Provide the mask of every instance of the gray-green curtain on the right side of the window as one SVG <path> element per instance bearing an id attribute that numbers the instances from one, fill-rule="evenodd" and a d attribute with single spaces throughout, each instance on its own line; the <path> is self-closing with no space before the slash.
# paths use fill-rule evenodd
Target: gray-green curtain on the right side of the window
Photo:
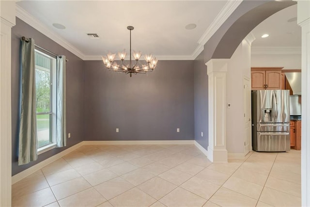
<path id="1" fill-rule="evenodd" d="M 66 146 L 66 57 L 57 56 L 56 146 Z"/>

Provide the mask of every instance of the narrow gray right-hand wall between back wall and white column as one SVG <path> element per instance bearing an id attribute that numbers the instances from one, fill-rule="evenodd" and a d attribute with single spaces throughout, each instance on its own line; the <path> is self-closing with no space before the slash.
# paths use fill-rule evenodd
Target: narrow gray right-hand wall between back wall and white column
<path id="1" fill-rule="evenodd" d="M 203 51 L 194 61 L 194 97 L 195 141 L 207 149 L 209 145 L 209 99 L 207 66 L 204 64 Z"/>

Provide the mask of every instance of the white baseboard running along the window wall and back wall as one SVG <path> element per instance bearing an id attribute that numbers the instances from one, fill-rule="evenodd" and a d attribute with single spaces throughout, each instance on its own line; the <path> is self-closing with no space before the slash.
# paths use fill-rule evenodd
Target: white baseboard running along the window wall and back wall
<path id="1" fill-rule="evenodd" d="M 72 147 L 63 150 L 62 152 L 47 158 L 43 160 L 42 162 L 39 162 L 36 165 L 31 166 L 30 168 L 12 176 L 12 185 L 19 180 L 22 180 L 23 178 L 31 175 L 32 173 L 40 170 L 41 168 L 47 166 L 48 164 L 52 163 L 53 161 L 56 161 L 57 159 L 62 158 L 66 154 L 69 154 L 73 150 L 77 149 L 80 146 L 83 145 L 90 145 L 90 144 L 194 144 L 194 140 L 151 140 L 151 141 L 82 141 L 76 145 L 73 145 Z"/>

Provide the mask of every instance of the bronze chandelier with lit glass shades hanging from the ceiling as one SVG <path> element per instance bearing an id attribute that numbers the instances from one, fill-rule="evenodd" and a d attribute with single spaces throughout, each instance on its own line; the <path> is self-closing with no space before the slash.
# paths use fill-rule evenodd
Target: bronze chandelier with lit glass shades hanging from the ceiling
<path id="1" fill-rule="evenodd" d="M 146 72 L 152 72 L 154 68 L 156 67 L 157 60 L 155 57 L 152 55 L 144 55 L 145 62 L 139 60 L 141 57 L 141 52 L 135 52 L 133 51 L 133 58 L 135 60 L 131 59 L 131 31 L 134 29 L 133 26 L 128 26 L 127 29 L 130 31 L 130 54 L 129 54 L 129 62 L 126 61 L 125 63 L 125 57 L 126 57 L 126 52 L 125 49 L 122 52 L 118 53 L 118 56 L 120 60 L 122 61 L 122 64 L 117 64 L 114 59 L 116 54 L 112 54 L 108 52 L 107 56 L 102 56 L 102 61 L 105 64 L 106 68 L 110 71 L 115 71 L 119 73 L 125 73 L 129 74 L 130 77 L 132 74 L 138 74 L 138 73 L 143 73 L 145 74 Z"/>

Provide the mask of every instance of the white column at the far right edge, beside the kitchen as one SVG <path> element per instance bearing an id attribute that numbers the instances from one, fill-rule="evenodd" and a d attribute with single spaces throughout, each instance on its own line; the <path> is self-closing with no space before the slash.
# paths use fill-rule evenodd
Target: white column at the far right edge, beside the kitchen
<path id="1" fill-rule="evenodd" d="M 297 1 L 301 26 L 301 205 L 310 206 L 310 0 Z"/>

